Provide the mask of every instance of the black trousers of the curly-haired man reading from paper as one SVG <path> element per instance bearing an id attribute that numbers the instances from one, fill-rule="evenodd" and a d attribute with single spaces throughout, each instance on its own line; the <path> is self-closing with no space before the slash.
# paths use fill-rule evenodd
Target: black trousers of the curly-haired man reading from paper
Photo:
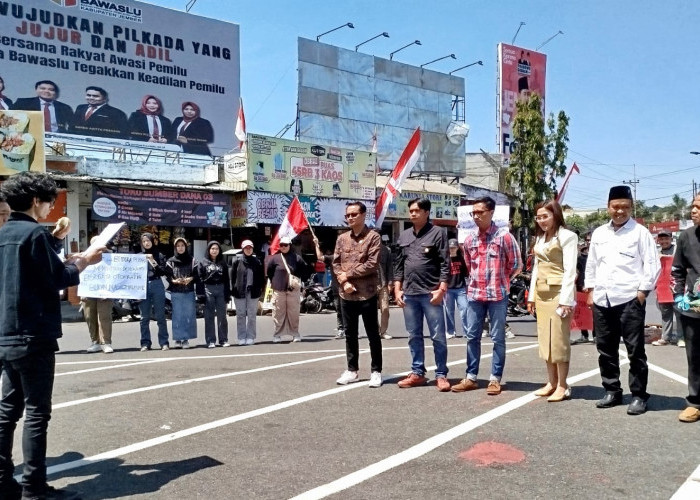
<path id="1" fill-rule="evenodd" d="M 24 474 L 22 487 L 28 498 L 46 491 L 46 435 L 51 419 L 51 395 L 56 353 L 33 352 L 20 359 L 2 361 L 0 400 L 0 493 L 12 481 L 12 444 L 17 421 L 26 410 L 22 433 Z"/>

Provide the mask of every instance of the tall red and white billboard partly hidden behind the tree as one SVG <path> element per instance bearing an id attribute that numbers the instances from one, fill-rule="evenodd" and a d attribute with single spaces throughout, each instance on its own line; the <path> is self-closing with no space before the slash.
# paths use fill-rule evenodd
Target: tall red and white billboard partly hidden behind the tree
<path id="1" fill-rule="evenodd" d="M 541 52 L 498 44 L 498 151 L 508 165 L 513 152 L 513 118 L 518 99 L 536 92 L 545 103 L 547 56 Z"/>

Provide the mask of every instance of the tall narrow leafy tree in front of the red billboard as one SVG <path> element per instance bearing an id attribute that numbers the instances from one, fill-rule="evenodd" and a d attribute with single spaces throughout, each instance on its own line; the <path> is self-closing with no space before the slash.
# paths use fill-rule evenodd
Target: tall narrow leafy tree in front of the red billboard
<path id="1" fill-rule="evenodd" d="M 566 174 L 566 154 L 569 142 L 569 117 L 559 111 L 545 119 L 542 99 L 536 93 L 515 104 L 513 120 L 514 151 L 506 170 L 506 181 L 520 192 L 514 223 L 532 227 L 532 209 L 540 201 L 554 198 L 557 178 Z M 527 236 L 521 235 L 523 246 Z"/>

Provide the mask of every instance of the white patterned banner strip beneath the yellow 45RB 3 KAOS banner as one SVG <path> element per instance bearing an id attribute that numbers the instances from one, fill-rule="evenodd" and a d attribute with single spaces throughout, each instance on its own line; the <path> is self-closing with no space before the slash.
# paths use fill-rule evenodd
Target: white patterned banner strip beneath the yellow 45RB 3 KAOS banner
<path id="1" fill-rule="evenodd" d="M 250 136 L 249 136 L 250 137 Z M 323 198 L 319 196 L 299 196 L 309 224 L 312 226 L 346 227 L 345 205 L 350 201 L 344 198 Z M 282 224 L 294 195 L 248 191 L 248 224 Z M 366 224 L 374 222 L 374 200 L 363 200 L 367 205 Z"/>

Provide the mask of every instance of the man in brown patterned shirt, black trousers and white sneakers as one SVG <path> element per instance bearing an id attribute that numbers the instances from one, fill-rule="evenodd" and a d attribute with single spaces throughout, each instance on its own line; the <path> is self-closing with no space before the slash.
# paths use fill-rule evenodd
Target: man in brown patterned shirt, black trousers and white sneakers
<path id="1" fill-rule="evenodd" d="M 372 356 L 370 387 L 382 385 L 382 341 L 377 320 L 377 282 L 379 271 L 379 233 L 370 231 L 365 224 L 367 207 L 361 201 L 348 203 L 345 220 L 350 231 L 338 236 L 333 255 L 333 272 L 338 278 L 345 350 L 348 368 L 336 383 L 346 385 L 359 380 L 358 330 L 360 316 L 365 325 Z"/>

